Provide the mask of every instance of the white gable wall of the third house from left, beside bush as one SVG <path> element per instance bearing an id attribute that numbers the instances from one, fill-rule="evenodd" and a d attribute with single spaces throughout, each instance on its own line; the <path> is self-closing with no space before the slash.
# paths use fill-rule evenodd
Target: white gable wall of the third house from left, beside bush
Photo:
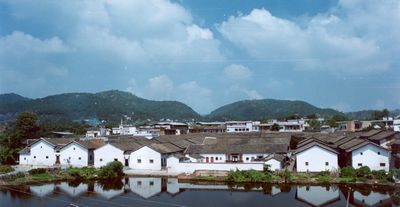
<path id="1" fill-rule="evenodd" d="M 105 166 L 114 159 L 117 159 L 123 165 L 125 164 L 124 152 L 111 144 L 106 144 L 94 150 L 94 167 Z"/>

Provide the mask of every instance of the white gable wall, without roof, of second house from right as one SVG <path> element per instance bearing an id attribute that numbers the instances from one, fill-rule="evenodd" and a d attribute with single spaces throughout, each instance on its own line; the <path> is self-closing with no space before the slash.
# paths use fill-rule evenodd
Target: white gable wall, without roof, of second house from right
<path id="1" fill-rule="evenodd" d="M 337 154 L 319 146 L 313 146 L 296 155 L 297 172 L 320 172 L 338 169 Z M 308 166 L 306 165 L 308 162 Z M 325 164 L 328 162 L 328 165 Z"/>

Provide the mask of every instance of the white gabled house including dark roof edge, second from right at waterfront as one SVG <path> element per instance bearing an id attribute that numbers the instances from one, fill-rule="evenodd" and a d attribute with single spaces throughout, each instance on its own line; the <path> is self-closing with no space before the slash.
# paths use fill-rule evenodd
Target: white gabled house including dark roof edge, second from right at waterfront
<path id="1" fill-rule="evenodd" d="M 298 172 L 333 171 L 339 168 L 338 151 L 318 141 L 311 141 L 295 151 Z"/>

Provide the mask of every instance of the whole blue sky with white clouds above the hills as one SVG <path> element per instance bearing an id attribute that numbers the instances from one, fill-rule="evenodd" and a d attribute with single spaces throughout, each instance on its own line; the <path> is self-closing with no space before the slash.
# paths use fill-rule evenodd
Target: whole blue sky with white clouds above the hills
<path id="1" fill-rule="evenodd" d="M 0 93 L 400 108 L 400 0 L 0 0 Z"/>

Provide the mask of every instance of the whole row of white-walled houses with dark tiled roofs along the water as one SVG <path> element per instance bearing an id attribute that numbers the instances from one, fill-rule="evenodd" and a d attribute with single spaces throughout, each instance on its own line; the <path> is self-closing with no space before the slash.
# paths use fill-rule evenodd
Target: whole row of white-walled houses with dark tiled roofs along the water
<path id="1" fill-rule="evenodd" d="M 334 171 L 345 166 L 388 171 L 399 133 L 221 133 L 80 140 L 41 138 L 19 152 L 21 165 L 94 166 L 112 161 L 133 170 L 194 173 L 198 170 Z M 300 140 L 300 141 L 299 141 Z"/>

